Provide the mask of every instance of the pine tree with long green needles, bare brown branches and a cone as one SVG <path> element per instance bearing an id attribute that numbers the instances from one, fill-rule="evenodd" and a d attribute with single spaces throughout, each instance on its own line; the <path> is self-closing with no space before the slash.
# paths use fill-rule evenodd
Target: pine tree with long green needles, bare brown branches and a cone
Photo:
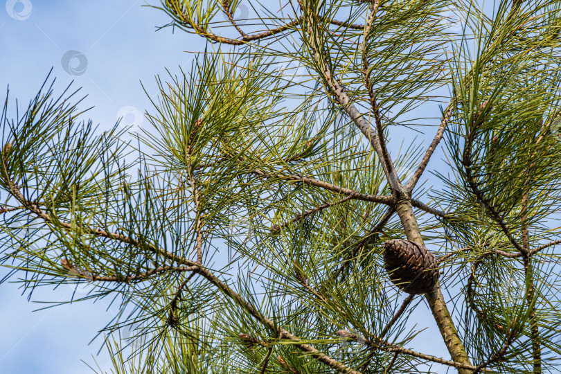
<path id="1" fill-rule="evenodd" d="M 247 1 L 154 6 L 208 46 L 139 146 L 6 96 L 3 281 L 114 298 L 116 373 L 558 373 L 561 2 Z"/>

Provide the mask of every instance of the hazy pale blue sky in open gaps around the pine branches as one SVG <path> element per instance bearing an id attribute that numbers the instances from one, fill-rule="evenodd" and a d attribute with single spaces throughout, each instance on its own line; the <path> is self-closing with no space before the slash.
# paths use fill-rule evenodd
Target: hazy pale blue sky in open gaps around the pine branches
<path id="1" fill-rule="evenodd" d="M 184 51 L 202 50 L 204 40 L 181 31 L 172 35 L 171 28 L 154 32 L 170 19 L 144 4 L 143 0 L 0 1 L 0 98 L 9 84 L 12 104 L 17 98 L 26 105 L 53 67 L 55 93 L 72 80 L 76 88 L 83 87 L 82 94 L 88 97 L 80 107 L 95 106 L 87 117 L 100 123 L 100 130 L 112 127 L 119 116 L 127 124 L 146 126 L 142 114 L 150 103 L 140 82 L 155 97 L 154 75 L 166 80 L 166 68 L 172 73 L 179 65 L 188 70 L 193 54 Z M 429 141 L 435 131 L 419 134 L 420 139 Z M 438 157 L 440 150 L 434 161 Z M 3 274 L 6 271 L 0 269 Z M 71 286 L 55 292 L 37 290 L 33 300 L 62 301 L 73 291 Z M 10 374 L 91 373 L 81 360 L 93 364 L 91 356 L 97 354 L 101 340 L 88 343 L 117 311 L 116 307 L 106 311 L 107 303 L 82 302 L 33 312 L 44 305 L 28 302 L 15 284 L 0 285 L 0 300 L 0 373 Z M 416 316 L 428 330 L 420 333 L 413 347 L 449 357 L 428 308 L 421 305 Z M 103 371 L 112 367 L 105 348 L 96 361 Z"/>

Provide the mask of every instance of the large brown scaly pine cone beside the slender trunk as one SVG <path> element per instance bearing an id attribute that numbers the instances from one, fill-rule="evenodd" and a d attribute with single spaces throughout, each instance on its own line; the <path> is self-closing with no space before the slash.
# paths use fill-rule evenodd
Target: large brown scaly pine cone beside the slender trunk
<path id="1" fill-rule="evenodd" d="M 438 281 L 438 266 L 431 251 L 411 240 L 384 243 L 384 262 L 392 283 L 409 294 L 424 294 Z"/>

